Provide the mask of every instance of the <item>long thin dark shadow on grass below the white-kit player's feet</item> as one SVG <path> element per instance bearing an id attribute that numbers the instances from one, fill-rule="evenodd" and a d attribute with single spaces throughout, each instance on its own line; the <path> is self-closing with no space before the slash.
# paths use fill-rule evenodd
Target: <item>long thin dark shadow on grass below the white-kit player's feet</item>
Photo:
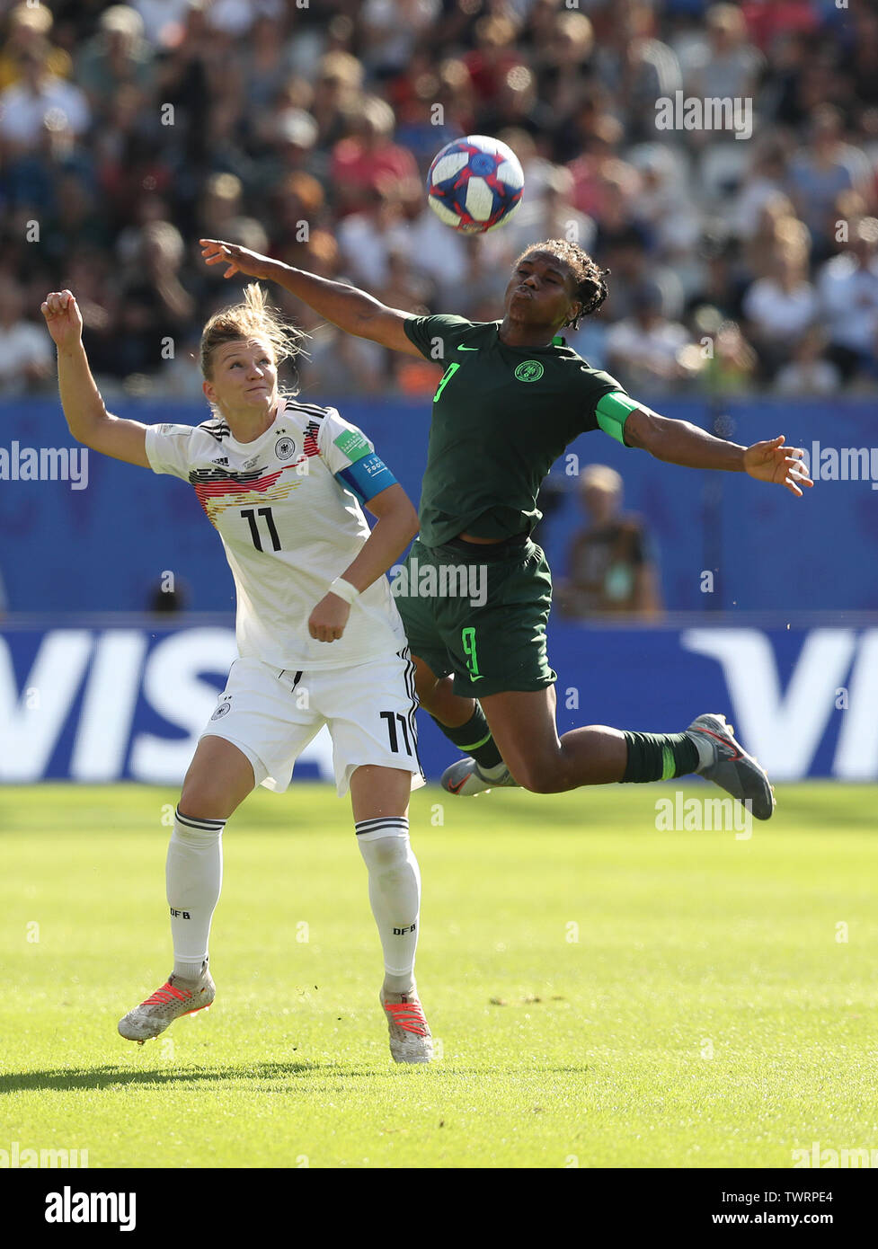
<path id="1" fill-rule="evenodd" d="M 396 1064 L 387 1068 L 345 1067 L 341 1063 L 318 1062 L 293 1062 L 293 1063 L 254 1063 L 251 1065 L 226 1065 L 226 1067 L 175 1067 L 164 1063 L 161 1067 L 116 1067 L 105 1063 L 100 1067 L 56 1067 L 45 1072 L 7 1072 L 0 1075 L 0 1094 L 17 1093 L 26 1089 L 55 1089 L 66 1092 L 69 1089 L 112 1089 L 126 1085 L 171 1085 L 171 1084 L 207 1084 L 231 1082 L 241 1085 L 250 1085 L 254 1080 L 284 1082 L 290 1077 L 318 1075 L 332 1078 L 342 1075 L 346 1078 L 366 1077 L 371 1080 L 387 1078 L 398 1070 L 446 1070 L 450 1075 L 481 1075 L 491 1074 L 480 1067 L 445 1067 L 442 1063 L 433 1063 L 430 1068 L 415 1064 L 413 1068 Z M 536 1070 L 531 1074 L 537 1074 Z M 582 1074 L 588 1067 L 552 1067 L 540 1068 L 538 1074 L 545 1075 L 573 1075 Z M 520 1072 L 513 1068 L 511 1074 Z M 282 1088 L 277 1088 L 282 1092 Z"/>

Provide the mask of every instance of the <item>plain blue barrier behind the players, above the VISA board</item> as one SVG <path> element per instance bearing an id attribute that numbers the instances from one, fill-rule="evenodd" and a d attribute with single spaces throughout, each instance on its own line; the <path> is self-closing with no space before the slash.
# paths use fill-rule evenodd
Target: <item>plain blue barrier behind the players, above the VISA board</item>
<path id="1" fill-rule="evenodd" d="M 366 430 L 417 501 L 428 397 L 338 400 L 337 406 Z M 703 400 L 668 398 L 654 406 L 667 416 L 716 426 L 718 410 Z M 114 411 L 147 425 L 197 425 L 209 415 L 204 406 L 179 402 L 126 401 Z M 741 473 L 662 463 L 599 431 L 582 435 L 552 468 L 545 495 L 547 507 L 555 506 L 538 541 L 555 573 L 565 573 L 571 540 L 585 523 L 577 473 L 601 462 L 618 470 L 626 510 L 643 518 L 668 610 L 878 611 L 874 402 L 738 400 L 724 405 L 721 417 L 716 427 L 742 443 L 786 433 L 816 461 L 817 486 L 794 498 Z M 222 546 L 184 482 L 95 452 L 80 462 L 56 400 L 0 403 L 0 586 L 7 611 L 149 611 L 167 573 L 184 590 L 190 611 L 234 610 Z M 37 473 L 22 476 L 34 455 Z M 57 471 L 65 468 L 61 455 L 66 480 Z M 704 571 L 712 575 L 709 591 Z"/>

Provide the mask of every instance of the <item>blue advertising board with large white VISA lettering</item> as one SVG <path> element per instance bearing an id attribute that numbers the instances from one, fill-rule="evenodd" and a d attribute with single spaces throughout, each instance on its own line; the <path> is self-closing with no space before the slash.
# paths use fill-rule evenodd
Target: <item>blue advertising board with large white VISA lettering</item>
<path id="1" fill-rule="evenodd" d="M 0 629 L 0 781 L 179 784 L 235 658 L 230 618 Z M 878 779 L 878 627 L 550 628 L 558 727 L 723 712 L 773 779 Z M 430 779 L 457 756 L 425 714 Z M 296 767 L 331 778 L 322 732 Z"/>

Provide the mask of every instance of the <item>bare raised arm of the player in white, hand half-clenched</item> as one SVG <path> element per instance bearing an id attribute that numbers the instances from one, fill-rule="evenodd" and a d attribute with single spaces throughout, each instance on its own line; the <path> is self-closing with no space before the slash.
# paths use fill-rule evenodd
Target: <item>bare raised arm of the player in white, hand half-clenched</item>
<path id="1" fill-rule="evenodd" d="M 92 451 L 149 468 L 146 426 L 111 416 L 104 406 L 82 346 L 82 313 L 74 296 L 52 291 L 41 311 L 57 347 L 57 386 L 72 436 Z"/>

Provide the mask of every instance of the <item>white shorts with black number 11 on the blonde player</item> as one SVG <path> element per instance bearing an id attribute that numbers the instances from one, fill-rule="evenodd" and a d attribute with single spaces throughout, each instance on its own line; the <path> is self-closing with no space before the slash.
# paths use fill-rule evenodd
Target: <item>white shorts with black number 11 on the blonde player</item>
<path id="1" fill-rule="evenodd" d="M 365 763 L 411 772 L 417 789 L 426 782 L 417 757 L 416 708 L 415 664 L 407 647 L 311 673 L 235 659 L 201 737 L 222 737 L 237 746 L 254 766 L 256 784 L 284 793 L 293 763 L 326 724 L 340 798 Z"/>

